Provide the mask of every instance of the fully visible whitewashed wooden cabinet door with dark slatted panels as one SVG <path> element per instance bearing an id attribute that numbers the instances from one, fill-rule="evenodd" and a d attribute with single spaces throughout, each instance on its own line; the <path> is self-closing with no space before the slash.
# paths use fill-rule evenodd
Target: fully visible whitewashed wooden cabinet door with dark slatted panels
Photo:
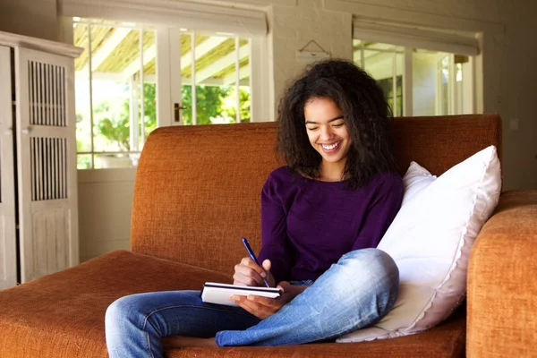
<path id="1" fill-rule="evenodd" d="M 71 58 L 15 48 L 21 282 L 78 264 Z"/>

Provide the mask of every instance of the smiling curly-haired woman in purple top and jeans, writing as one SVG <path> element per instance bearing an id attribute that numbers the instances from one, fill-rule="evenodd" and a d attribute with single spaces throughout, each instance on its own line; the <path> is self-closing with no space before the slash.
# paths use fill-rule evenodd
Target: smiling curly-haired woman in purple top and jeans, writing
<path id="1" fill-rule="evenodd" d="M 277 149 L 286 166 L 261 192 L 258 266 L 244 258 L 234 284 L 278 286 L 276 299 L 198 291 L 132 294 L 107 310 L 111 358 L 162 357 L 163 347 L 297 345 L 369 326 L 396 301 L 399 275 L 374 249 L 401 205 L 391 116 L 376 82 L 354 64 L 311 66 L 286 90 Z"/>

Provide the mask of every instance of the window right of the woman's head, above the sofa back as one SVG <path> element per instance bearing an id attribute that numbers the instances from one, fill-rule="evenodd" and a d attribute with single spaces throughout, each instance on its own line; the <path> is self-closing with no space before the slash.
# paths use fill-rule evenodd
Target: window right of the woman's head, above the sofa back
<path id="1" fill-rule="evenodd" d="M 379 82 L 394 116 L 473 113 L 469 56 L 354 39 L 354 63 Z"/>

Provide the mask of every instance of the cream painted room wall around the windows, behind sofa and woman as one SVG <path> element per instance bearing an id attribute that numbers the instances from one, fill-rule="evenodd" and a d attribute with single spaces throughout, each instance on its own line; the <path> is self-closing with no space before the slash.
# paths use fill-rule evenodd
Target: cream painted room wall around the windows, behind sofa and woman
<path id="1" fill-rule="evenodd" d="M 47 39 L 65 38 L 58 30 L 55 0 L 4 0 L 0 30 Z M 59 0 L 60 3 L 62 0 Z M 180 0 L 177 0 L 180 1 Z M 201 2 L 201 1 L 200 1 Z M 537 189 L 537 119 L 534 110 L 537 72 L 537 2 L 533 0 L 220 0 L 211 3 L 251 6 L 268 12 L 268 62 L 273 64 L 271 96 L 279 98 L 286 81 L 303 69 L 295 51 L 314 39 L 334 57 L 352 59 L 352 17 L 376 13 L 379 19 L 400 21 L 443 19 L 452 26 L 476 21 L 487 29 L 503 26 L 503 33 L 482 38 L 483 112 L 498 112 L 504 120 L 504 189 Z M 266 7 L 267 5 L 268 8 Z M 344 11 L 323 9 L 329 6 Z M 480 101 L 480 98 L 477 98 Z M 277 106 L 277 101 L 275 101 Z M 518 118 L 518 129 L 509 120 Z M 267 119 L 270 115 L 267 115 Z M 133 173 L 133 171 L 132 171 Z M 81 260 L 115 248 L 128 248 L 133 174 L 121 180 L 80 173 Z"/>

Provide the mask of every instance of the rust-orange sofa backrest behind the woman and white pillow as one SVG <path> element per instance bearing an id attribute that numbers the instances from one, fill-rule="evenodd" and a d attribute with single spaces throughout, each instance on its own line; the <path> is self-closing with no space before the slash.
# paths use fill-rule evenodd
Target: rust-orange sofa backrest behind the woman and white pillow
<path id="1" fill-rule="evenodd" d="M 399 117 L 393 126 L 398 170 L 412 160 L 441 175 L 496 145 L 499 115 Z M 260 191 L 283 165 L 274 155 L 276 124 L 158 128 L 141 153 L 132 206 L 132 251 L 232 274 L 260 250 Z"/>

